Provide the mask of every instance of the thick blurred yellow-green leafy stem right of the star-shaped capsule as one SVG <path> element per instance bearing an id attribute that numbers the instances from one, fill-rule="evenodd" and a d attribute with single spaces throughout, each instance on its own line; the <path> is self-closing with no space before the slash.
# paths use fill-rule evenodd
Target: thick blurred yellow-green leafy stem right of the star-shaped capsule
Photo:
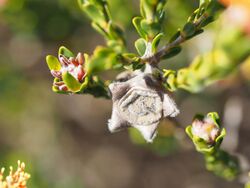
<path id="1" fill-rule="evenodd" d="M 249 38 L 241 31 L 226 28 L 219 34 L 212 51 L 197 56 L 186 68 L 178 71 L 163 70 L 163 83 L 170 91 L 181 88 L 199 92 L 235 72 L 250 55 L 249 43 Z"/>

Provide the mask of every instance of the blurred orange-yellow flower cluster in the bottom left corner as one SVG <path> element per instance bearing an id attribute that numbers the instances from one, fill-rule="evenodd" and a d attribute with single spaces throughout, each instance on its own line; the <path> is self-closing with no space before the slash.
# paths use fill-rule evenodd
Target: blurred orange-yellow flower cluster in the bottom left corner
<path id="1" fill-rule="evenodd" d="M 1 169 L 0 172 L 0 187 L 1 188 L 26 188 L 26 184 L 28 179 L 30 178 L 30 174 L 25 172 L 25 164 L 18 161 L 17 170 L 14 171 L 12 167 L 10 167 L 10 173 L 6 178 L 3 177 L 4 168 Z"/>

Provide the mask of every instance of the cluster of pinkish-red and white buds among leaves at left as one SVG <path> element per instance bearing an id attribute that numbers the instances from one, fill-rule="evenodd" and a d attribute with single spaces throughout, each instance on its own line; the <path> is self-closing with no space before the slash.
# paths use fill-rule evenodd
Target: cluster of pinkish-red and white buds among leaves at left
<path id="1" fill-rule="evenodd" d="M 67 58 L 64 55 L 60 54 L 58 59 L 61 64 L 61 69 L 51 70 L 51 74 L 55 78 L 59 79 L 59 81 L 54 83 L 54 87 L 56 87 L 60 91 L 69 90 L 66 83 L 64 83 L 62 79 L 62 75 L 65 73 L 69 73 L 70 75 L 72 75 L 79 83 L 84 82 L 86 72 L 84 71 L 84 68 L 83 68 L 84 57 L 81 53 L 78 53 L 76 58 L 74 57 Z"/>

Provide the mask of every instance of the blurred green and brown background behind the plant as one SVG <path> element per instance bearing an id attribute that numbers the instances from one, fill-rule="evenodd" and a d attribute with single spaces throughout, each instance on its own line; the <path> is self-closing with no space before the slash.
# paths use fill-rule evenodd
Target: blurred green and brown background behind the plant
<path id="1" fill-rule="evenodd" d="M 131 18 L 139 14 L 139 1 L 109 4 L 135 52 L 138 36 Z M 167 38 L 197 6 L 197 0 L 168 1 Z M 242 16 L 241 10 L 227 10 L 162 66 L 187 66 L 197 54 L 213 48 L 217 33 L 227 25 L 235 23 L 249 37 L 249 12 Z M 243 27 L 244 19 L 248 25 Z M 91 54 L 104 44 L 76 0 L 0 0 L 0 166 L 24 161 L 32 176 L 29 188 L 242 187 L 206 171 L 184 128 L 197 112 L 218 111 L 228 132 L 223 147 L 250 158 L 250 60 L 201 93 L 175 92 L 180 115 L 176 121 L 164 120 L 156 141 L 148 145 L 131 129 L 109 133 L 111 101 L 51 91 L 47 54 L 56 55 L 61 45 Z"/>

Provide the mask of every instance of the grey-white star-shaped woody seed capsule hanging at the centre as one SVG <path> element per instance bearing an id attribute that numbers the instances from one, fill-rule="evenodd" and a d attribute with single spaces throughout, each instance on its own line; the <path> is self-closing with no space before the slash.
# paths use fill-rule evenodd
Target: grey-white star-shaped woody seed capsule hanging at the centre
<path id="1" fill-rule="evenodd" d="M 152 142 L 164 117 L 175 117 L 179 110 L 151 73 L 129 74 L 110 84 L 113 111 L 108 127 L 111 132 L 132 126 Z"/>

